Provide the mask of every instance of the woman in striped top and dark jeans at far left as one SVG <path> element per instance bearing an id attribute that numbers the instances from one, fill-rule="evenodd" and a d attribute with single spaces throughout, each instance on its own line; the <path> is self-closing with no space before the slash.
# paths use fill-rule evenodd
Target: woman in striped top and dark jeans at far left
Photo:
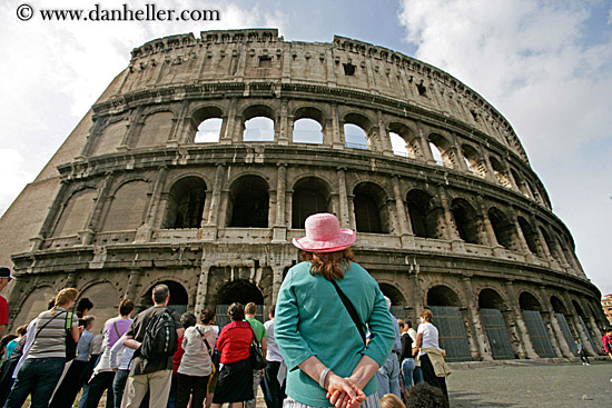
<path id="1" fill-rule="evenodd" d="M 18 408 L 31 394 L 32 407 L 47 407 L 66 365 L 66 327 L 75 342 L 79 341 L 77 319 L 67 321 L 67 310 L 75 305 L 79 292 L 67 288 L 59 291 L 51 310 L 38 315 L 23 347 L 17 377 L 7 399 L 6 408 Z"/>

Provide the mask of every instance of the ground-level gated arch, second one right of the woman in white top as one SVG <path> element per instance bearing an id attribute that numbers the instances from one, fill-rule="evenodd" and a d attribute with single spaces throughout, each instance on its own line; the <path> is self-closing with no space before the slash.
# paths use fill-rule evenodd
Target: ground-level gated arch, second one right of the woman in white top
<path id="1" fill-rule="evenodd" d="M 480 319 L 494 359 L 517 358 L 521 354 L 520 335 L 507 305 L 509 300 L 493 287 L 478 292 Z"/>

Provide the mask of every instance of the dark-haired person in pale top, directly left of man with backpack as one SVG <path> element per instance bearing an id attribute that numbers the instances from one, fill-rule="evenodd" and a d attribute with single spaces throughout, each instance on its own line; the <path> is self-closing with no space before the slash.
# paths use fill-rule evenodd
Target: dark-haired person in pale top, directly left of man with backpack
<path id="1" fill-rule="evenodd" d="M 107 408 L 115 407 L 115 398 L 108 397 L 112 395 L 112 381 L 115 380 L 115 371 L 110 365 L 110 349 L 119 338 L 128 331 L 131 326 L 130 316 L 132 312 L 134 301 L 130 299 L 122 299 L 121 302 L 119 302 L 119 316 L 108 319 L 105 322 L 102 329 L 102 352 L 93 368 L 92 377 L 89 379 L 85 408 L 96 408 L 105 390 L 107 391 Z"/>

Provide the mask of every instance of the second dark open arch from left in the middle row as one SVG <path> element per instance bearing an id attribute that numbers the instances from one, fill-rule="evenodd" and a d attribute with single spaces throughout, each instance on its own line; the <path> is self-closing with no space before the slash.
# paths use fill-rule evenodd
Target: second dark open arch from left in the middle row
<path id="1" fill-rule="evenodd" d="M 270 193 L 268 179 L 249 171 L 229 183 L 226 226 L 239 228 L 268 228 Z"/>

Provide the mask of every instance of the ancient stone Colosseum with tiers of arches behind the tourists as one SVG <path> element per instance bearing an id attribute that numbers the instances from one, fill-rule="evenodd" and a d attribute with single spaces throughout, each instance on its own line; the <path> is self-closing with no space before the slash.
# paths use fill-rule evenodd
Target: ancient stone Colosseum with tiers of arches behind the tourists
<path id="1" fill-rule="evenodd" d="M 102 321 L 159 282 L 177 310 L 263 311 L 324 211 L 394 315 L 434 311 L 448 360 L 599 354 L 601 293 L 509 121 L 414 58 L 276 29 L 134 49 L 0 221 L 11 326 L 63 287 Z"/>

